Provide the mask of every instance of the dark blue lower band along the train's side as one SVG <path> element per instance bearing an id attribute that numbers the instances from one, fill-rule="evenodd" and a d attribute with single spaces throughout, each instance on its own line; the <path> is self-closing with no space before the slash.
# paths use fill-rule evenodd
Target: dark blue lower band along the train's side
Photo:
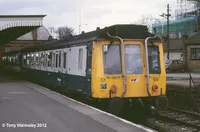
<path id="1" fill-rule="evenodd" d="M 91 79 L 87 76 L 83 77 L 29 68 L 24 68 L 23 70 L 28 77 L 36 81 L 45 82 L 53 86 L 61 86 L 91 96 Z"/>

